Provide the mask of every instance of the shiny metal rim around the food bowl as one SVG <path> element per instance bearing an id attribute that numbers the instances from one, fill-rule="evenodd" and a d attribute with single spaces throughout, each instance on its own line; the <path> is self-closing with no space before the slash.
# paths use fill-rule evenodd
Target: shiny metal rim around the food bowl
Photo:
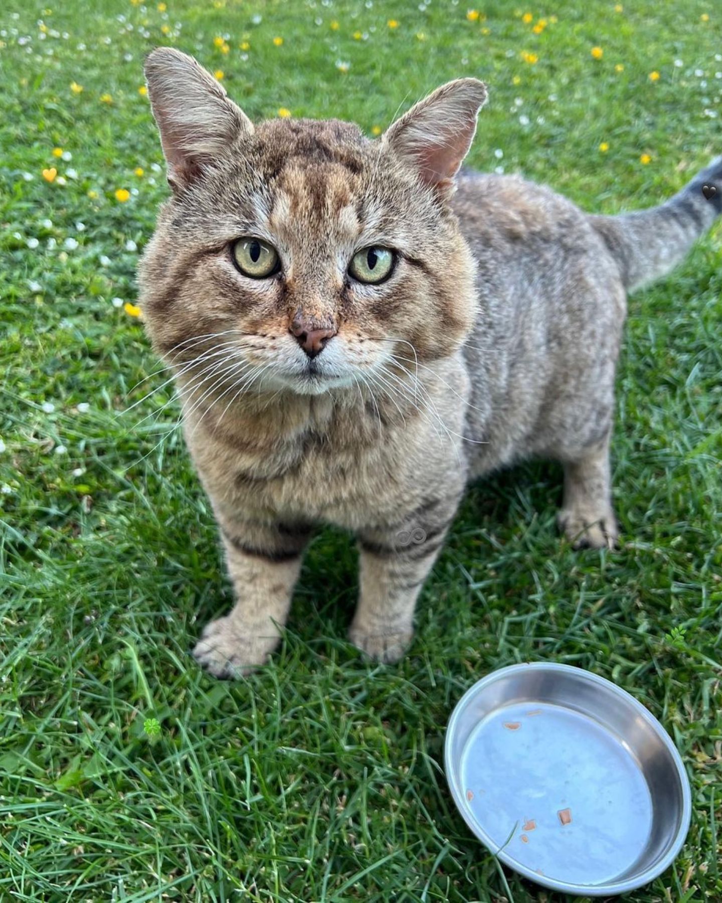
<path id="1" fill-rule="evenodd" d="M 662 743 L 670 752 L 671 759 L 674 762 L 674 767 L 677 771 L 677 777 L 680 782 L 682 793 L 680 828 L 677 832 L 676 837 L 674 838 L 674 842 L 672 842 L 671 844 L 670 849 L 653 867 L 641 871 L 633 878 L 629 878 L 624 881 L 616 881 L 613 883 L 597 885 L 570 884 L 566 881 L 547 878 L 546 876 L 542 876 L 538 872 L 532 871 L 531 869 L 527 868 L 527 866 L 523 865 L 522 862 L 515 860 L 514 857 L 510 856 L 507 852 L 504 852 L 504 850 L 493 852 L 496 846 L 495 842 L 492 841 L 492 839 L 488 836 L 488 834 L 486 834 L 485 831 L 480 830 L 477 824 L 474 824 L 472 820 L 467 817 L 464 800 L 462 799 L 460 794 L 457 793 L 454 781 L 449 778 L 449 775 L 456 773 L 455 768 L 451 763 L 451 743 L 454 738 L 454 732 L 456 730 L 457 721 L 460 718 L 460 713 L 465 708 L 465 703 L 467 703 L 467 700 L 471 696 L 477 694 L 487 684 L 495 683 L 495 681 L 503 675 L 513 674 L 514 672 L 529 671 L 530 669 L 535 671 L 556 671 L 560 672 L 561 674 L 574 675 L 581 680 L 587 680 L 593 684 L 601 684 L 603 686 L 606 686 L 614 693 L 618 694 L 622 699 L 624 699 L 626 703 L 631 705 L 632 708 L 634 708 L 634 710 L 638 712 L 645 721 L 647 721 L 647 723 L 653 728 L 655 734 L 660 738 L 660 740 L 662 740 Z M 553 890 L 561 890 L 565 893 L 583 894 L 587 897 L 605 897 L 609 896 L 610 894 L 622 894 L 626 893 L 629 890 L 643 887 L 643 885 L 648 884 L 650 881 L 653 881 L 655 878 L 657 878 L 658 875 L 662 874 L 662 871 L 670 867 L 671 863 L 676 859 L 677 854 L 680 852 L 682 844 L 685 842 L 687 833 L 690 830 L 690 820 L 692 815 L 690 779 L 689 777 L 687 777 L 687 772 L 685 771 L 684 763 L 682 762 L 680 753 L 677 747 L 672 742 L 670 735 L 667 733 L 667 731 L 664 730 L 662 723 L 658 719 L 656 719 L 652 712 L 645 708 L 645 706 L 643 706 L 643 704 L 640 703 L 639 700 L 635 699 L 634 696 L 628 693 L 626 690 L 623 690 L 621 686 L 617 686 L 617 684 L 614 684 L 612 683 L 612 681 L 607 680 L 606 677 L 601 677 L 591 671 L 587 671 L 585 668 L 580 668 L 573 665 L 563 665 L 560 662 L 522 662 L 518 665 L 507 665 L 502 668 L 496 668 L 495 671 L 491 671 L 489 672 L 489 674 L 477 680 L 475 684 L 471 684 L 471 686 L 468 687 L 467 691 L 458 700 L 458 703 L 454 706 L 454 710 L 453 712 L 451 712 L 451 715 L 449 717 L 446 739 L 444 740 L 444 771 L 446 774 L 447 783 L 449 784 L 449 790 L 451 791 L 451 796 L 454 799 L 454 803 L 456 804 L 459 813 L 471 829 L 472 833 L 474 833 L 477 838 L 484 843 L 486 849 L 491 852 L 492 855 L 494 855 L 497 859 L 504 862 L 504 865 L 507 865 L 510 869 L 518 872 L 520 875 L 523 875 L 524 878 L 528 878 L 529 880 L 532 880 L 537 884 L 542 884 L 543 887 L 547 887 Z"/>

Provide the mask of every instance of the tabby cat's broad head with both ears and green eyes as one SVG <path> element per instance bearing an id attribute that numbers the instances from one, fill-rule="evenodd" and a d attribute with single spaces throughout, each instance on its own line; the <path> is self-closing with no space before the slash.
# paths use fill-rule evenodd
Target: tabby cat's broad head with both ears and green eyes
<path id="1" fill-rule="evenodd" d="M 316 395 L 458 349 L 476 300 L 449 200 L 481 82 L 444 85 L 369 140 L 338 120 L 254 126 L 180 51 L 145 72 L 172 197 L 141 306 L 164 358 Z"/>

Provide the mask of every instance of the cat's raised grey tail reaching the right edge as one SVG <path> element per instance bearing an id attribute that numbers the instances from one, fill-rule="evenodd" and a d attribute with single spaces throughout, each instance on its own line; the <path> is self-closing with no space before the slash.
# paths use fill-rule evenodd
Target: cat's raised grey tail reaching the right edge
<path id="1" fill-rule="evenodd" d="M 692 243 L 722 214 L 722 156 L 674 197 L 616 217 L 589 216 L 633 291 L 680 263 Z"/>

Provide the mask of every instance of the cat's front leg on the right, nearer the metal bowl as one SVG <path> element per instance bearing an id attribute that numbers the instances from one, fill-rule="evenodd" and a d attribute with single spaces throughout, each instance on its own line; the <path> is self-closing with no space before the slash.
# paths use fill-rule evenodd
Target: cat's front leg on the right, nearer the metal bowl
<path id="1" fill-rule="evenodd" d="M 457 500 L 425 502 L 402 524 L 359 533 L 360 592 L 348 638 L 377 661 L 398 661 L 413 637 L 413 612 Z"/>

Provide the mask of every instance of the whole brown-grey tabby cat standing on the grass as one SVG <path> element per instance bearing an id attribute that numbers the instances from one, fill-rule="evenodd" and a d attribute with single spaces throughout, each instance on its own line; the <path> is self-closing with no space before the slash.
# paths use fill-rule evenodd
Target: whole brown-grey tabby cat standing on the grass
<path id="1" fill-rule="evenodd" d="M 521 178 L 459 172 L 477 79 L 369 140 L 333 119 L 254 125 L 169 48 L 145 73 L 172 195 L 140 303 L 236 594 L 199 663 L 234 676 L 267 659 L 321 523 L 358 539 L 352 642 L 395 661 L 465 486 L 530 456 L 563 463 L 569 540 L 613 545 L 625 295 L 720 213 L 722 158 L 661 207 L 590 216 Z"/>

